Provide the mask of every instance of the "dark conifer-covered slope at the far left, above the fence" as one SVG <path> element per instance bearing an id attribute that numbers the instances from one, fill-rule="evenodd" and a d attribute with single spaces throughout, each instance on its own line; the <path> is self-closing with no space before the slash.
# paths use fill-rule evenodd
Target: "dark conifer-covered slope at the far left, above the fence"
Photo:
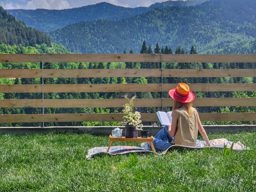
<path id="1" fill-rule="evenodd" d="M 0 44 L 21 44 L 35 46 L 46 43 L 50 46 L 50 38 L 42 31 L 27 27 L 23 21 L 17 20 L 0 6 Z"/>

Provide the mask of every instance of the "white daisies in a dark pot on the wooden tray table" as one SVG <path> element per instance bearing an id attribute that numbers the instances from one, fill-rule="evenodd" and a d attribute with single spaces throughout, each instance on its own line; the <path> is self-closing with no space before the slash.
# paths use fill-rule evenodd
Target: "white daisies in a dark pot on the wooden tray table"
<path id="1" fill-rule="evenodd" d="M 126 95 L 127 98 L 127 95 Z M 123 124 L 125 124 L 125 137 L 126 138 L 138 138 L 138 130 L 142 130 L 143 124 L 140 120 L 140 112 L 135 111 L 134 97 L 128 99 L 128 103 L 123 105 L 122 113 Z"/>

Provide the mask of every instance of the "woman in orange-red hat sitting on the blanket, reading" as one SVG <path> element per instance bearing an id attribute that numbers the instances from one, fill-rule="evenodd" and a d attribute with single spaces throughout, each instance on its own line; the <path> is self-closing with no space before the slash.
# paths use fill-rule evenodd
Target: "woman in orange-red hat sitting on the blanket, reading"
<path id="1" fill-rule="evenodd" d="M 164 151 L 172 145 L 196 146 L 198 130 L 207 145 L 210 145 L 206 131 L 198 116 L 197 110 L 192 107 L 194 94 L 185 83 L 179 83 L 175 89 L 169 91 L 174 99 L 172 107 L 172 123 L 164 126 L 154 137 L 153 145 L 156 150 Z M 148 142 L 141 147 L 151 150 Z"/>

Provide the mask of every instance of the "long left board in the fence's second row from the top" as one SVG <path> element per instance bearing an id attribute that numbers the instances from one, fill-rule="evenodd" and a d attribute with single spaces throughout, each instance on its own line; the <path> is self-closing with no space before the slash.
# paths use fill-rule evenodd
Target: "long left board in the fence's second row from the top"
<path id="1" fill-rule="evenodd" d="M 0 69 L 0 78 L 97 78 L 160 76 L 160 69 Z"/>

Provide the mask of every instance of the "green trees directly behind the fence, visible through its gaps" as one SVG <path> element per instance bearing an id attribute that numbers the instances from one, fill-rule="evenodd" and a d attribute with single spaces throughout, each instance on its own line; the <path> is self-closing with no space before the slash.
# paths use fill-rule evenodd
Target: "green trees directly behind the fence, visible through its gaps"
<path id="1" fill-rule="evenodd" d="M 62 50 L 61 47 L 57 45 L 52 45 L 56 50 Z M 6 52 L 15 53 L 21 49 L 28 52 L 27 48 L 19 46 L 0 46 L 5 49 Z M 7 49 L 7 50 L 6 50 Z M 38 46 L 37 49 L 33 49 L 33 52 L 43 52 L 43 50 L 48 50 L 48 53 L 54 53 L 55 50 L 49 51 L 48 47 Z M 11 52 L 12 51 L 12 52 Z M 126 49 L 123 53 L 128 54 Z M 140 53 L 163 53 L 163 54 L 197 54 L 197 49 L 192 45 L 190 51 L 187 52 L 181 46 L 178 46 L 175 51 L 172 51 L 170 46 L 160 47 L 158 43 L 154 47 L 147 46 L 146 41 L 142 43 Z M 133 50 L 130 49 L 129 54 L 133 54 Z M 250 69 L 256 68 L 255 63 L 162 63 L 162 68 L 166 69 Z M 39 68 L 38 63 L 1 63 L 1 69 L 31 69 Z M 44 69 L 112 69 L 112 68 L 159 68 L 159 63 L 154 62 L 126 62 L 126 63 L 44 63 Z M 0 79 L 1 84 L 40 84 L 39 78 L 16 78 L 14 80 L 10 79 Z M 112 78 L 44 78 L 44 84 L 147 84 L 147 83 L 159 83 L 159 78 L 150 77 L 112 77 Z M 179 82 L 185 83 L 256 83 L 256 78 L 163 78 L 163 83 L 176 84 Z M 192 90 L 193 91 L 193 90 Z M 234 95 L 234 92 L 194 92 L 196 97 L 238 97 L 241 94 Z M 45 93 L 44 98 L 46 99 L 98 99 L 98 98 L 124 98 L 127 93 L 123 92 L 82 92 L 82 93 Z M 246 96 L 254 96 L 254 92 L 245 92 Z M 160 98 L 160 92 L 130 92 L 129 97 L 136 95 L 136 98 Z M 6 93 L 0 95 L 3 99 L 35 99 L 41 98 L 38 93 Z M 167 92 L 163 92 L 163 97 L 169 97 Z M 241 97 L 245 97 L 242 95 Z M 223 108 L 223 107 L 198 107 L 199 112 L 223 112 L 223 111 L 233 111 L 235 107 Z M 244 110 L 248 107 L 241 108 Z M 44 108 L 44 113 L 118 113 L 121 112 L 122 108 Z M 137 107 L 137 110 L 142 113 L 155 113 L 161 110 L 159 107 Z M 171 110 L 171 107 L 165 107 L 165 111 Z M 255 109 L 250 107 L 251 112 Z M 241 111 L 240 111 L 241 112 Z M 1 108 L 1 114 L 36 114 L 41 113 L 40 108 Z M 209 122 L 213 123 L 213 122 Z M 220 122 L 219 122 L 220 123 Z M 91 125 L 119 125 L 120 122 L 54 122 L 45 123 L 46 126 L 91 126 Z M 152 122 L 144 122 L 144 125 L 152 124 Z M 40 123 L 5 123 L 1 126 L 39 126 Z"/>

